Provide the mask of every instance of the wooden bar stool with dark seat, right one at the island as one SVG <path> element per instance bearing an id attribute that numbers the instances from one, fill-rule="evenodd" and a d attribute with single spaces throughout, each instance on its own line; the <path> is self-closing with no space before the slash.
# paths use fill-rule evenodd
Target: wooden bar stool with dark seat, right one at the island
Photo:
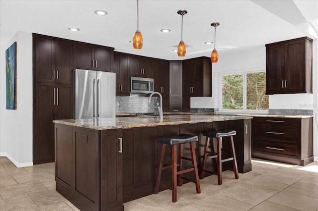
<path id="1" fill-rule="evenodd" d="M 233 136 L 237 134 L 237 131 L 235 130 L 229 130 L 229 129 L 222 129 L 217 131 L 205 131 L 203 132 L 203 135 L 206 136 L 205 139 L 205 147 L 204 147 L 204 154 L 203 154 L 203 161 L 202 161 L 202 167 L 200 171 L 200 179 L 203 179 L 204 172 L 208 173 L 214 173 L 212 171 L 205 170 L 205 163 L 207 158 L 217 158 L 217 170 L 218 170 L 218 184 L 222 184 L 222 163 L 226 161 L 233 160 L 233 168 L 235 173 L 235 178 L 239 179 L 239 173 L 238 173 L 238 164 L 237 164 L 237 158 L 235 155 L 235 148 L 234 148 L 234 141 Z M 231 158 L 222 159 L 222 137 L 229 137 L 231 140 Z M 210 142 L 211 139 L 216 138 L 217 140 L 217 152 L 214 152 L 213 142 Z M 208 151 L 209 148 L 209 142 L 211 143 L 211 151 Z"/>

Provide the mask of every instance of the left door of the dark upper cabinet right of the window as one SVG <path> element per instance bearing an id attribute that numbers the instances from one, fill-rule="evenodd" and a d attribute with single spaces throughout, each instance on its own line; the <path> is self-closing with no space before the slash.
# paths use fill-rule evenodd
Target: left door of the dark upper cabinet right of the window
<path id="1" fill-rule="evenodd" d="M 284 44 L 266 46 L 266 95 L 284 92 Z"/>

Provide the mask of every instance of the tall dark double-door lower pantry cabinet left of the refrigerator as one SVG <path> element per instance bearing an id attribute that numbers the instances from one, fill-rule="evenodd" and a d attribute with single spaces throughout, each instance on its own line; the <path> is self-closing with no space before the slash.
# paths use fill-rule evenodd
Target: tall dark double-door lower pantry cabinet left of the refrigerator
<path id="1" fill-rule="evenodd" d="M 73 86 L 36 83 L 33 163 L 54 161 L 54 119 L 73 118 Z"/>

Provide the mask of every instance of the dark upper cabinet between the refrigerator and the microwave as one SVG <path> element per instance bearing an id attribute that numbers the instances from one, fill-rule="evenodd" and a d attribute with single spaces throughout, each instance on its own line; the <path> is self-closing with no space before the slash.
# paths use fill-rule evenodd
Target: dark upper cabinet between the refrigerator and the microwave
<path id="1" fill-rule="evenodd" d="M 116 95 L 130 95 L 130 56 L 114 53 L 114 70 L 116 72 Z"/>

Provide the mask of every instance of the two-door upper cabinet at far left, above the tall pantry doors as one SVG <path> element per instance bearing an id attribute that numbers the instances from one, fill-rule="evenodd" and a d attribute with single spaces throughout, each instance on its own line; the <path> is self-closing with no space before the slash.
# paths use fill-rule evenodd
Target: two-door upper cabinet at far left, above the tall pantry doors
<path id="1" fill-rule="evenodd" d="M 34 36 L 35 81 L 72 84 L 73 44 L 45 36 Z"/>

